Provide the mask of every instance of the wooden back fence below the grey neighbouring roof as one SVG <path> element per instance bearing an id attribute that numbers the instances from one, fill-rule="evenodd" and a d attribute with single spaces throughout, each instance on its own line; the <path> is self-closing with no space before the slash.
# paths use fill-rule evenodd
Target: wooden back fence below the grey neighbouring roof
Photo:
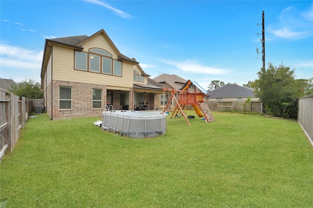
<path id="1" fill-rule="evenodd" d="M 205 101 L 211 111 L 245 111 L 244 100 L 207 100 Z M 263 111 L 263 105 L 259 101 L 250 101 L 246 105 L 246 111 Z"/>

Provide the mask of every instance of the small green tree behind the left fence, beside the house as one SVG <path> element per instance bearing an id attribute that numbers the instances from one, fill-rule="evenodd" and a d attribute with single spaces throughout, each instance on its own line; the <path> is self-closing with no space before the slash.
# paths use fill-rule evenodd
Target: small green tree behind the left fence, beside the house
<path id="1" fill-rule="evenodd" d="M 44 97 L 40 84 L 35 83 L 32 79 L 25 79 L 25 81 L 18 83 L 18 87 L 12 89 L 12 93 L 20 96 L 20 98 L 40 99 Z"/>

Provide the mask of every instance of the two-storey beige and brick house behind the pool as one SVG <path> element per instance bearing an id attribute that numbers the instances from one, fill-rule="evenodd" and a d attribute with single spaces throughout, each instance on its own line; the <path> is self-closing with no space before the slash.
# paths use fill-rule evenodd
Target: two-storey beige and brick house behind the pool
<path id="1" fill-rule="evenodd" d="M 41 88 L 51 119 L 110 110 L 157 108 L 156 86 L 135 58 L 119 52 L 102 29 L 91 36 L 46 39 Z"/>

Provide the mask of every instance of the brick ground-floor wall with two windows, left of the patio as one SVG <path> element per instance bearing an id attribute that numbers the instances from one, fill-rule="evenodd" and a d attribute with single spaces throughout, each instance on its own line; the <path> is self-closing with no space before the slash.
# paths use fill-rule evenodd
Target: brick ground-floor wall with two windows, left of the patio
<path id="1" fill-rule="evenodd" d="M 69 117 L 86 117 L 86 116 L 100 116 L 104 111 L 107 99 L 107 86 L 99 84 L 88 84 L 69 81 L 52 80 L 52 116 L 53 119 L 62 119 Z M 72 88 L 72 109 L 59 109 L 59 87 Z M 92 89 L 102 90 L 102 108 L 92 109 Z M 51 94 L 51 93 L 50 93 Z M 113 94 L 114 95 L 114 94 Z M 113 99 L 114 100 L 114 99 Z M 119 100 L 118 100 L 119 101 Z M 49 103 L 47 103 L 49 105 Z M 51 104 L 50 104 L 51 105 Z M 51 108 L 47 106 L 47 109 Z M 114 109 L 115 110 L 115 109 Z M 51 116 L 50 116 L 51 117 Z"/>

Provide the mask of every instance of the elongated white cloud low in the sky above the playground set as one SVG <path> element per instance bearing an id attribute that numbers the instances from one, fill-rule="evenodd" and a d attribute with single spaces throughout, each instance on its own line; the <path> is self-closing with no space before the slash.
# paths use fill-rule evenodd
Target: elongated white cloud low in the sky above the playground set
<path id="1" fill-rule="evenodd" d="M 173 65 L 181 71 L 186 73 L 196 73 L 196 74 L 208 74 L 208 75 L 220 75 L 227 73 L 227 70 L 212 67 L 212 66 L 202 66 L 195 60 L 186 60 L 184 62 L 172 61 L 161 59 L 162 62 Z"/>

